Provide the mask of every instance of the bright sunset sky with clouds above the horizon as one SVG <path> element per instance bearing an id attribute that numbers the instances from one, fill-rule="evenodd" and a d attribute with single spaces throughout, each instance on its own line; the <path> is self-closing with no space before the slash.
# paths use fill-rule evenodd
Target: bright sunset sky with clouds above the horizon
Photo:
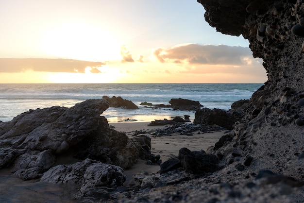
<path id="1" fill-rule="evenodd" d="M 197 0 L 1 0 L 0 83 L 264 83 Z"/>

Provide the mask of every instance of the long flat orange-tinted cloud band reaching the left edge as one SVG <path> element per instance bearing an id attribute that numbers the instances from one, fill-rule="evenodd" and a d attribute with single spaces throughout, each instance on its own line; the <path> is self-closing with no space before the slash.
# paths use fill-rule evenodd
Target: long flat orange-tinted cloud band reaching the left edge
<path id="1" fill-rule="evenodd" d="M 96 67 L 103 65 L 105 63 L 73 59 L 0 58 L 0 72 L 33 70 L 39 72 L 84 73 L 86 67 L 91 67 L 91 72 L 95 73 L 98 72 L 95 70 Z"/>

